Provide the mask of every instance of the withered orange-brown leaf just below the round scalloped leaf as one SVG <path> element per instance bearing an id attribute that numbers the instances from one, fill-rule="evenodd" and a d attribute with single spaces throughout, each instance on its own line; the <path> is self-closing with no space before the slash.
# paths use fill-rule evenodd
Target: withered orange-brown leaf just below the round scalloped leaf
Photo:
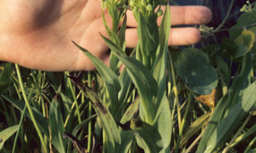
<path id="1" fill-rule="evenodd" d="M 210 108 L 214 108 L 215 92 L 216 90 L 214 89 L 210 94 L 197 96 L 196 100 L 208 105 Z"/>

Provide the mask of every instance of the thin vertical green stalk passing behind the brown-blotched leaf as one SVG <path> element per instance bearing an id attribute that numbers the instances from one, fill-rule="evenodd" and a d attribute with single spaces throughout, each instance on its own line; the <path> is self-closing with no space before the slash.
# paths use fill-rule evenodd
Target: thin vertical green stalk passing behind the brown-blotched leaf
<path id="1" fill-rule="evenodd" d="M 88 86 L 91 88 L 91 72 L 88 72 Z M 92 114 L 92 106 L 91 103 L 89 103 L 88 107 L 88 116 L 91 116 Z M 92 140 L 92 134 L 91 134 L 91 121 L 88 123 L 88 143 L 87 143 L 87 151 L 91 152 L 91 140 Z"/>

